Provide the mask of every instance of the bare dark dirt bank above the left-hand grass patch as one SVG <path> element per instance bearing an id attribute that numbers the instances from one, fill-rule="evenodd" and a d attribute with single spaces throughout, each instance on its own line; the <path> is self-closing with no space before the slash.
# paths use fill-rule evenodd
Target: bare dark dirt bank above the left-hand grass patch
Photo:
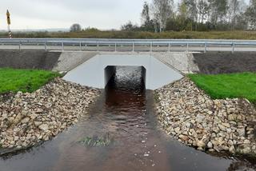
<path id="1" fill-rule="evenodd" d="M 52 70 L 61 52 L 0 50 L 0 68 Z"/>

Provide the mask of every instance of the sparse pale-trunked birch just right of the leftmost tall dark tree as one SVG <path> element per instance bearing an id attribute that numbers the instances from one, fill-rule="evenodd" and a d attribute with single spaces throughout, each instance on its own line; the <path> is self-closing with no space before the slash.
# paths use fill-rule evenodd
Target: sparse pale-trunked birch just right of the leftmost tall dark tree
<path id="1" fill-rule="evenodd" d="M 167 19 L 170 18 L 173 13 L 173 0 L 153 0 L 152 11 L 154 15 L 155 29 L 162 32 L 166 29 Z M 157 28 L 157 26 L 159 26 Z"/>

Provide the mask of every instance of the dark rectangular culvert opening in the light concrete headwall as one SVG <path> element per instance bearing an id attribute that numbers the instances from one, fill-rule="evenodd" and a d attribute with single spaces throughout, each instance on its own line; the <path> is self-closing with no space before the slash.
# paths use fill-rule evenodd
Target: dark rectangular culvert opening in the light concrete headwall
<path id="1" fill-rule="evenodd" d="M 142 93 L 146 89 L 146 69 L 143 66 L 106 66 L 105 89 Z"/>

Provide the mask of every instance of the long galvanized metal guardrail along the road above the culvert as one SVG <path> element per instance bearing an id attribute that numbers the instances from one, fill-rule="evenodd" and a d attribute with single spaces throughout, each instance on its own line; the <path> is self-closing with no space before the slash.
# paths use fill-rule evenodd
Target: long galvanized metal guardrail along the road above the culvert
<path id="1" fill-rule="evenodd" d="M 203 51 L 209 51 L 209 46 L 218 46 L 219 51 L 222 51 L 223 47 L 230 47 L 230 50 L 234 53 L 236 46 L 250 46 L 256 51 L 256 40 L 214 40 L 214 39 L 105 39 L 105 38 L 0 38 L 1 46 L 18 46 L 19 50 L 22 50 L 22 46 L 33 46 L 33 49 L 50 50 L 50 46 L 60 46 L 61 50 L 65 50 L 65 46 L 79 46 L 79 50 L 82 50 L 82 46 L 94 46 L 95 51 L 100 50 L 100 46 L 114 47 L 114 51 L 117 51 L 118 46 L 132 47 L 131 51 L 134 51 L 135 47 L 149 47 L 149 51 L 153 51 L 153 47 L 166 47 L 167 51 L 171 51 L 172 46 L 186 47 L 186 51 L 190 50 L 191 46 L 203 47 Z M 41 48 L 39 48 L 41 47 Z M 106 48 L 107 49 L 107 48 Z M 126 50 L 130 51 L 130 50 Z M 140 51 L 139 49 L 136 51 Z M 142 50 L 145 51 L 145 50 Z"/>

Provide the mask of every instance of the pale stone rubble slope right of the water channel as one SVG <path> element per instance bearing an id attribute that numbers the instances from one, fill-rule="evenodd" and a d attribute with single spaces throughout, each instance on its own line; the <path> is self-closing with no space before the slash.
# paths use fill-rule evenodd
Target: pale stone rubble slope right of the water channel
<path id="1" fill-rule="evenodd" d="M 246 99 L 212 100 L 182 78 L 156 90 L 166 133 L 199 150 L 256 154 L 256 111 Z"/>

